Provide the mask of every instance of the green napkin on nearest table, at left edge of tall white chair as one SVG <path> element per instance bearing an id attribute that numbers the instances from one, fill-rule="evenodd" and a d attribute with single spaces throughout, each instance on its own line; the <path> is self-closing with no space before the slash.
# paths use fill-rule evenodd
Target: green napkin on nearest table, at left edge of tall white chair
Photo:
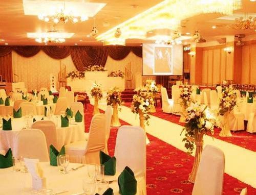
<path id="1" fill-rule="evenodd" d="M 104 173 L 107 176 L 114 176 L 116 174 L 116 157 L 112 157 L 99 151 L 100 164 L 104 164 Z"/>

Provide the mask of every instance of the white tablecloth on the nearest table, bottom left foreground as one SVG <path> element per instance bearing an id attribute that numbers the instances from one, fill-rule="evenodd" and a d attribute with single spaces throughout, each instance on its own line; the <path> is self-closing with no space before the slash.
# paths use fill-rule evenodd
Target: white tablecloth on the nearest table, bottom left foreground
<path id="1" fill-rule="evenodd" d="M 44 170 L 44 176 L 46 177 L 46 187 L 53 190 L 53 192 L 60 192 L 67 190 L 63 195 L 70 195 L 75 193 L 83 192 L 82 181 L 88 178 L 87 167 L 84 166 L 74 171 L 70 171 L 69 174 L 62 175 L 58 171 L 58 167 L 50 166 L 49 162 L 40 163 Z M 70 163 L 68 170 L 72 167 L 77 167 L 80 164 Z M 105 176 L 106 181 L 117 180 L 119 173 L 115 176 Z M 12 167 L 0 169 L 0 181 L 1 188 L 0 194 L 11 194 L 11 195 L 29 195 L 32 190 L 32 181 L 30 173 L 13 172 Z M 117 181 L 109 184 L 114 190 L 114 194 L 117 195 L 119 187 Z"/>

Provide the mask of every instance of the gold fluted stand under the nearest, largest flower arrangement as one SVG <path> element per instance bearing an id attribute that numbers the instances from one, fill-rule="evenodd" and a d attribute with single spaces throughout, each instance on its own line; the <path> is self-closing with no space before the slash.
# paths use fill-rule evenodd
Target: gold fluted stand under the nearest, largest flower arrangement
<path id="1" fill-rule="evenodd" d="M 201 159 L 202 155 L 202 150 L 203 150 L 203 137 L 204 137 L 204 132 L 196 132 L 195 133 L 195 144 L 196 144 L 196 154 L 195 154 L 195 159 L 193 163 L 193 168 L 191 170 L 191 173 L 188 176 L 188 181 L 191 183 L 195 183 L 196 180 L 196 175 L 197 175 L 197 169 L 199 166 L 199 162 Z"/>

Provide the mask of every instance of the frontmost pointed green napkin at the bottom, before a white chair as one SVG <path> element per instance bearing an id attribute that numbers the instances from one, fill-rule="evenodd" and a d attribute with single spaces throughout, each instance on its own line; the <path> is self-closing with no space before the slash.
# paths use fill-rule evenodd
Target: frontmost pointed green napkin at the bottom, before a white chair
<path id="1" fill-rule="evenodd" d="M 119 193 L 122 195 L 135 195 L 137 192 L 137 181 L 131 168 L 125 166 L 118 177 Z"/>

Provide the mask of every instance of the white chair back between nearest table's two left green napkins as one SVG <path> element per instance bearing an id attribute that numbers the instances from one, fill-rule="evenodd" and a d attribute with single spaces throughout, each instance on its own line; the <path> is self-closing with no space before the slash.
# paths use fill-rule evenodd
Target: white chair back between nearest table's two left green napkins
<path id="1" fill-rule="evenodd" d="M 46 136 L 39 129 L 20 130 L 15 138 L 15 157 L 39 159 L 41 162 L 49 161 Z"/>

